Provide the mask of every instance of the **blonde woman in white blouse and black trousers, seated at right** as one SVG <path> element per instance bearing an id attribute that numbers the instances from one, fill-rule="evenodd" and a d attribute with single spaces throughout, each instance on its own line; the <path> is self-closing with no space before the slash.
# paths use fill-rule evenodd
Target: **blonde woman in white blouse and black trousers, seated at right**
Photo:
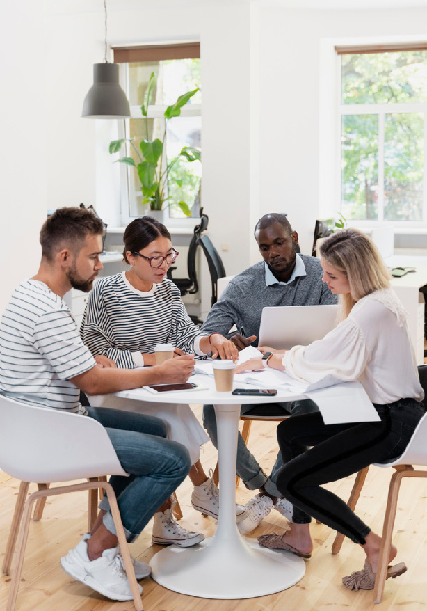
<path id="1" fill-rule="evenodd" d="M 284 466 L 277 488 L 293 503 L 293 523 L 286 533 L 259 537 L 268 548 L 309 558 L 314 517 L 359 544 L 366 555 L 362 571 L 343 578 L 349 589 L 373 589 L 381 539 L 346 503 L 322 486 L 371 463 L 402 454 L 424 414 L 410 344 L 406 312 L 390 288 L 389 271 L 371 239 L 355 229 L 341 230 L 321 245 L 323 282 L 341 301 L 341 323 L 309 346 L 271 351 L 266 365 L 296 379 L 315 382 L 328 374 L 339 381 L 362 383 L 380 422 L 325 425 L 320 413 L 289 418 L 277 429 Z M 263 365 L 252 359 L 238 370 Z M 313 446 L 309 450 L 306 447 Z M 396 557 L 392 546 L 389 562 Z M 389 566 L 387 578 L 406 571 Z"/>

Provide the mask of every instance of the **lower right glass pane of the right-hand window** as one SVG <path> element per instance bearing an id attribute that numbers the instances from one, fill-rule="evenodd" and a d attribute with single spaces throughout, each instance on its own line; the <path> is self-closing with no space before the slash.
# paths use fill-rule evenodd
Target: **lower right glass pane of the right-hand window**
<path id="1" fill-rule="evenodd" d="M 385 115 L 385 219 L 422 220 L 423 166 L 423 115 L 421 113 Z"/>

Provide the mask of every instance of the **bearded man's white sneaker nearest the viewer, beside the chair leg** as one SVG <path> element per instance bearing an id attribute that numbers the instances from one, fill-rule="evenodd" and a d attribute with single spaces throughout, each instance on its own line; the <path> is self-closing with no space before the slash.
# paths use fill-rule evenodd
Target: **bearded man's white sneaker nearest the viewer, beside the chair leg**
<path id="1" fill-rule="evenodd" d="M 112 601 L 131 601 L 131 586 L 118 556 L 119 548 L 104 550 L 102 557 L 89 560 L 88 543 L 80 541 L 73 550 L 61 558 L 65 573 L 90 586 Z M 142 587 L 138 585 L 140 594 Z"/>

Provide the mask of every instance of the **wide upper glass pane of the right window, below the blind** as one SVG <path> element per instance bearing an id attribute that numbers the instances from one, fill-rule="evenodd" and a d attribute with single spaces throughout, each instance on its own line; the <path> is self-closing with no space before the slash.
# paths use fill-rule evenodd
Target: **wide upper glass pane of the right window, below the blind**
<path id="1" fill-rule="evenodd" d="M 427 51 L 341 56 L 343 104 L 427 101 Z"/>

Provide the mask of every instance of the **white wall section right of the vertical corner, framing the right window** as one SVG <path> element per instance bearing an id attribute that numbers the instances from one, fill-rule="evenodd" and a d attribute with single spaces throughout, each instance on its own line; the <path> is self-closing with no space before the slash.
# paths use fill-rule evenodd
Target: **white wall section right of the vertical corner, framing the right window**
<path id="1" fill-rule="evenodd" d="M 426 23 L 427 8 L 291 10 L 277 2 L 263 3 L 262 205 L 289 214 L 303 252 L 309 253 L 315 219 L 335 214 L 339 205 L 330 173 L 337 138 L 333 40 L 427 40 Z"/>

